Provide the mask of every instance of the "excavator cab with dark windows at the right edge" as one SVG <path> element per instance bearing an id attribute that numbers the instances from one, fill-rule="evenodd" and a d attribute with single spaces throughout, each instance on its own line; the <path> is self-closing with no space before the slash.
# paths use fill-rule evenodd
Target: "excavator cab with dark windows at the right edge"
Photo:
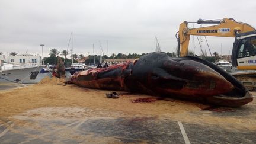
<path id="1" fill-rule="evenodd" d="M 232 50 L 232 65 L 238 69 L 255 69 L 256 31 L 236 34 Z"/>

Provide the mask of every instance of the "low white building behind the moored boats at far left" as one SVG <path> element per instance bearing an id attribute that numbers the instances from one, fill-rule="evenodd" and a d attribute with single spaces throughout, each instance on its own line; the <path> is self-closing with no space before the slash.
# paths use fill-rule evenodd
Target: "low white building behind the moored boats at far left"
<path id="1" fill-rule="evenodd" d="M 7 57 L 7 63 L 29 63 L 29 64 L 35 64 L 35 65 L 40 65 L 42 63 L 39 54 L 36 56 L 31 55 L 31 54 L 20 54 L 16 56 L 8 56 Z"/>

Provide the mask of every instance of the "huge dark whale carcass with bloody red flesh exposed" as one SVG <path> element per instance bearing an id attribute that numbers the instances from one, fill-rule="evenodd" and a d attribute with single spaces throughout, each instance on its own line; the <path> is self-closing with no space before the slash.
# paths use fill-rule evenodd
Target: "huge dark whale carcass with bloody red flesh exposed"
<path id="1" fill-rule="evenodd" d="M 228 107 L 252 101 L 241 82 L 212 63 L 197 57 L 172 58 L 162 52 L 149 53 L 134 62 L 77 72 L 70 82 L 87 88 L 140 92 Z"/>

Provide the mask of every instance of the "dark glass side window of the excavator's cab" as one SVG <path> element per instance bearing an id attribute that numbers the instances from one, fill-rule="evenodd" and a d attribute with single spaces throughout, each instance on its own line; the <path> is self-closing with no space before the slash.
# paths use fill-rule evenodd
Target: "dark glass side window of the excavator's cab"
<path id="1" fill-rule="evenodd" d="M 256 37 L 248 37 L 238 46 L 238 58 L 256 55 Z"/>

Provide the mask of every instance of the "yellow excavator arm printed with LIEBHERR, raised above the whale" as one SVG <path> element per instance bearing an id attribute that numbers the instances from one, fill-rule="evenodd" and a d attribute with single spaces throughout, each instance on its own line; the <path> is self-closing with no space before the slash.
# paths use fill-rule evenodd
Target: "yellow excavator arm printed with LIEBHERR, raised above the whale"
<path id="1" fill-rule="evenodd" d="M 188 23 L 197 24 L 218 24 L 209 27 L 188 28 Z M 190 35 L 197 36 L 215 36 L 215 37 L 236 37 L 236 34 L 255 31 L 255 28 L 249 24 L 241 23 L 232 18 L 223 18 L 222 20 L 198 20 L 197 22 L 184 21 L 180 24 L 178 31 L 178 53 L 180 56 L 188 55 L 188 44 Z"/>

